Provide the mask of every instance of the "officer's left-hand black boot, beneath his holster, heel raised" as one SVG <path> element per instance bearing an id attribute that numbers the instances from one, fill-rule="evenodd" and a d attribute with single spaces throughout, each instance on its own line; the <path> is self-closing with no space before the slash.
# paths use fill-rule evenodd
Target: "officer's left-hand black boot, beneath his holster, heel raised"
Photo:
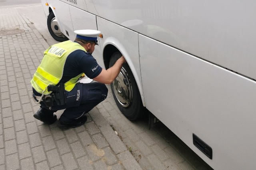
<path id="1" fill-rule="evenodd" d="M 57 116 L 53 114 L 54 111 L 47 110 L 42 107 L 34 114 L 34 118 L 51 125 L 57 120 Z"/>

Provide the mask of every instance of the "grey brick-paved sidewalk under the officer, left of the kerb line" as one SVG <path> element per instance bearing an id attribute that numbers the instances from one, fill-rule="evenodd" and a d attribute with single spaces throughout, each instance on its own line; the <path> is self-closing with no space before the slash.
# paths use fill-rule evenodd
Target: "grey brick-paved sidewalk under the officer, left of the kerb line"
<path id="1" fill-rule="evenodd" d="M 0 170 L 142 169 L 96 107 L 64 131 L 34 119 L 30 80 L 47 47 L 18 8 L 0 9 Z"/>

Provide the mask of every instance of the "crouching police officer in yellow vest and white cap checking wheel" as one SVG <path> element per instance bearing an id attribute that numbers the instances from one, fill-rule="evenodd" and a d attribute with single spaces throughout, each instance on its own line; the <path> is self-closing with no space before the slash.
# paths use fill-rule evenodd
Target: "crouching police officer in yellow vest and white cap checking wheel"
<path id="1" fill-rule="evenodd" d="M 33 98 L 36 103 L 40 103 L 40 109 L 34 117 L 52 124 L 57 119 L 54 112 L 65 109 L 57 121 L 60 128 L 83 125 L 87 120 L 85 114 L 106 99 L 108 89 L 105 84 L 115 80 L 122 64 L 126 62 L 122 56 L 112 67 L 103 69 L 92 57 L 100 31 L 87 29 L 74 32 L 74 42 L 57 43 L 44 52 L 42 62 L 31 80 Z M 96 82 L 80 83 L 79 78 L 83 73 Z M 60 84 L 64 84 L 65 88 L 64 105 L 57 105 L 54 92 L 47 88 L 49 85 L 58 87 Z"/>

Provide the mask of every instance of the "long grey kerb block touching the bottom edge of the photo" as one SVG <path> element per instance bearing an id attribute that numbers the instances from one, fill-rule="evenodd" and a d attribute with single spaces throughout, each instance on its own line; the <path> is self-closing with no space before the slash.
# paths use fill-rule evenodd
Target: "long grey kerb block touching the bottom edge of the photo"
<path id="1" fill-rule="evenodd" d="M 119 153 L 117 156 L 119 160 L 122 162 L 122 164 L 124 165 L 124 168 L 142 169 L 128 150 L 126 150 L 125 152 Z"/>

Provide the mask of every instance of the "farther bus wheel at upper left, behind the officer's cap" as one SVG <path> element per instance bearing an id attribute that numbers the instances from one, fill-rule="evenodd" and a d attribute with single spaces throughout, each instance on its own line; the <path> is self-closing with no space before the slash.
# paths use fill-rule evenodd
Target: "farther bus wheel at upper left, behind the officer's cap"
<path id="1" fill-rule="evenodd" d="M 56 41 L 62 42 L 68 40 L 68 38 L 60 31 L 60 27 L 53 12 L 50 12 L 48 15 L 47 26 L 50 34 Z"/>

